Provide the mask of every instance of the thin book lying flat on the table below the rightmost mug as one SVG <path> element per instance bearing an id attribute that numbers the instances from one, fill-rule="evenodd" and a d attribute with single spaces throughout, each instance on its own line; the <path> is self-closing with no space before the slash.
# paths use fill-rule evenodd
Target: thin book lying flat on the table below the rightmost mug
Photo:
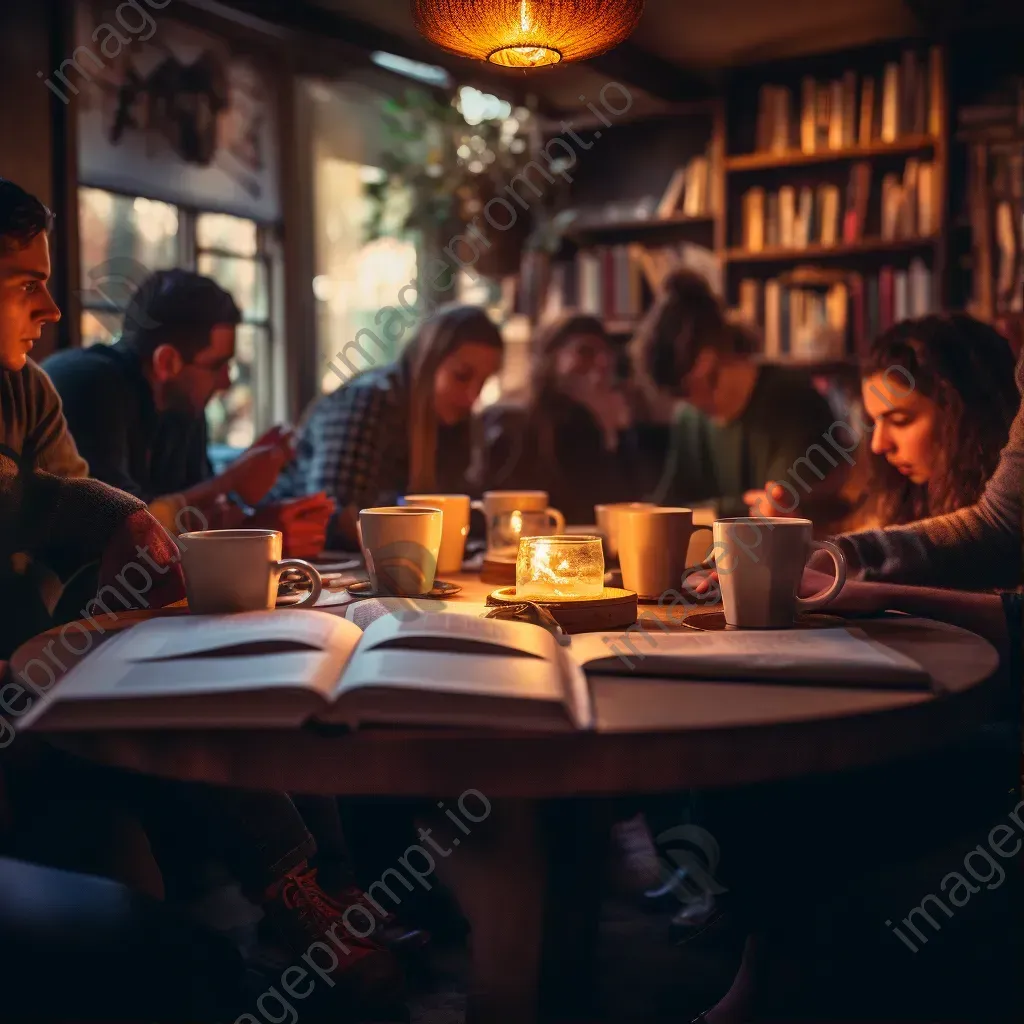
<path id="1" fill-rule="evenodd" d="M 911 658 L 859 629 L 588 633 L 572 638 L 570 656 L 592 672 L 681 679 L 778 680 L 906 685 L 930 676 Z"/>

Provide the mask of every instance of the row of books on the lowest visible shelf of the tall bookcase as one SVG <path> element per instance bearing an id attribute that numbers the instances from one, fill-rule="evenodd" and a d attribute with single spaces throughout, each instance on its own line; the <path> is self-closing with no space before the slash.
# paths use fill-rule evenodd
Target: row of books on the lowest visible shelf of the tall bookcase
<path id="1" fill-rule="evenodd" d="M 798 269 L 781 278 L 739 282 L 736 315 L 759 328 L 770 358 L 862 355 L 893 324 L 936 309 L 924 260 L 868 274 Z"/>

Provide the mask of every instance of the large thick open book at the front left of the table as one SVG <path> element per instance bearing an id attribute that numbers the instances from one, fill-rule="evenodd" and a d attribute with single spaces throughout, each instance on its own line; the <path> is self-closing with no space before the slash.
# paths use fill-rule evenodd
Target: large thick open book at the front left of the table
<path id="1" fill-rule="evenodd" d="M 19 728 L 589 729 L 582 670 L 538 626 L 308 610 L 152 618 L 75 666 Z"/>

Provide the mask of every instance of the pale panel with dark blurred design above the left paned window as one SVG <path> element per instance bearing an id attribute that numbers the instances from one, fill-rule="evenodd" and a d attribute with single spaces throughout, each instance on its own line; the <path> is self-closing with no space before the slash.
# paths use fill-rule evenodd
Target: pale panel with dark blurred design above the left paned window
<path id="1" fill-rule="evenodd" d="M 79 5 L 76 49 L 47 85 L 74 97 L 81 181 L 276 220 L 272 80 L 156 6 Z"/>

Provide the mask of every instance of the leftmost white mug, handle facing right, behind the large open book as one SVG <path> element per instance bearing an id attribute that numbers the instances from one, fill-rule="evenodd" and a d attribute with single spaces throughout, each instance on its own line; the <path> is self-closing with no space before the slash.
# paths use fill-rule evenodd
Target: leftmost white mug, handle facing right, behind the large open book
<path id="1" fill-rule="evenodd" d="M 298 607 L 313 605 L 321 596 L 324 585 L 312 565 L 299 558 L 282 559 L 279 530 L 204 529 L 182 534 L 177 545 L 193 614 L 272 608 L 285 569 L 298 569 L 309 580 L 309 596 Z"/>

